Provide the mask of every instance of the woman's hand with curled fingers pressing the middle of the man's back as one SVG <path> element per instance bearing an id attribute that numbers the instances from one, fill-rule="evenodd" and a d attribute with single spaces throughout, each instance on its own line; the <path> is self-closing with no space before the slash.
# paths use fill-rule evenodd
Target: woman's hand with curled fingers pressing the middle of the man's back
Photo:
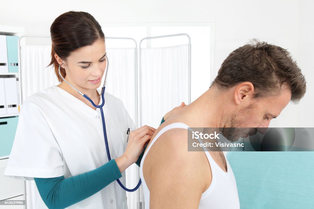
<path id="1" fill-rule="evenodd" d="M 145 125 L 130 132 L 126 150 L 121 157 L 115 159 L 121 173 L 138 160 L 155 131 L 155 128 Z"/>

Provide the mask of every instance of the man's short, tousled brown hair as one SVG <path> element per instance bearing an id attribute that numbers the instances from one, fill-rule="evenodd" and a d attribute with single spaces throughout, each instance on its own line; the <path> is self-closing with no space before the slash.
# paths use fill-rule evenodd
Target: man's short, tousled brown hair
<path id="1" fill-rule="evenodd" d="M 256 39 L 229 54 L 212 85 L 226 90 L 242 82 L 253 84 L 254 98 L 279 95 L 283 84 L 294 103 L 306 92 L 305 78 L 290 53 Z"/>

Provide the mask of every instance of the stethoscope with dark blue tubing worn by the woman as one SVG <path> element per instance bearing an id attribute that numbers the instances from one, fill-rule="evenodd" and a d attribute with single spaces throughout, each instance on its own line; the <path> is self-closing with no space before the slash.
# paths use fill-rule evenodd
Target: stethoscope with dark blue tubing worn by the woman
<path id="1" fill-rule="evenodd" d="M 80 92 L 77 88 L 75 88 L 71 83 L 69 83 L 68 81 L 66 81 L 63 76 L 61 75 L 61 72 L 60 72 L 60 68 L 61 68 L 61 65 L 59 65 L 59 75 L 61 76 L 61 78 L 66 82 L 68 83 L 72 88 L 74 88 L 79 94 L 81 94 L 83 97 L 85 97 L 87 100 L 90 101 L 90 103 L 92 103 L 92 105 L 96 108 L 99 108 L 100 109 L 100 113 L 101 113 L 101 120 L 102 120 L 102 125 L 103 125 L 103 130 L 104 130 L 104 137 L 105 137 L 105 145 L 106 145 L 106 151 L 107 151 L 107 157 L 108 157 L 108 160 L 110 161 L 111 160 L 111 157 L 110 157 L 110 152 L 109 152 L 109 145 L 108 145 L 108 139 L 107 139 L 107 132 L 106 132 L 106 122 L 105 122 L 105 117 L 104 117 L 104 110 L 102 109 L 102 107 L 105 105 L 105 99 L 104 99 L 104 94 L 105 94 L 105 88 L 106 88 L 106 80 L 107 80 L 107 74 L 108 74 L 108 57 L 106 55 L 106 59 L 107 59 L 107 70 L 106 70 L 106 75 L 105 75 L 105 81 L 104 81 L 104 86 L 102 87 L 102 92 L 101 92 L 101 99 L 102 99 L 102 103 L 101 105 L 95 105 L 95 103 L 89 98 L 89 96 L 87 96 L 86 94 L 83 94 L 82 92 Z M 62 61 L 63 64 L 64 61 Z M 127 134 L 130 133 L 129 131 L 130 129 L 128 129 L 127 131 Z M 118 182 L 118 184 L 122 187 L 122 189 L 128 191 L 128 192 L 133 192 L 133 191 L 136 191 L 139 186 L 141 185 L 142 183 L 142 180 L 139 179 L 138 181 L 138 184 L 136 185 L 136 187 L 134 187 L 134 189 L 128 189 L 126 188 L 122 182 L 117 179 L 116 180 Z"/>

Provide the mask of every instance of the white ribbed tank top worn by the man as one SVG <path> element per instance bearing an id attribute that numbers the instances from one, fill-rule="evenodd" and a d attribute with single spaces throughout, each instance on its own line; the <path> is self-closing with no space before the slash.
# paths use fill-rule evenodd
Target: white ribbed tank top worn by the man
<path id="1" fill-rule="evenodd" d="M 145 179 L 143 177 L 143 163 L 147 153 L 149 152 L 150 147 L 156 142 L 156 140 L 163 134 L 165 131 L 168 131 L 172 128 L 184 128 L 187 129 L 187 126 L 184 123 L 172 123 L 168 126 L 165 126 L 161 129 L 158 134 L 154 137 L 153 141 L 150 143 L 149 147 L 146 148 L 146 152 L 143 155 L 141 164 L 140 164 L 140 178 L 142 179 L 142 186 L 143 186 L 143 194 L 144 194 L 144 201 L 145 201 L 145 209 L 149 209 L 149 189 L 147 188 Z M 214 161 L 211 157 L 209 152 L 205 150 L 206 148 L 203 147 L 203 150 L 207 156 L 208 162 L 211 167 L 212 171 L 212 182 L 208 189 L 202 193 L 201 200 L 199 202 L 198 208 L 199 209 L 239 209 L 239 196 L 238 190 L 236 187 L 236 180 L 230 164 L 226 159 L 227 164 L 227 172 L 223 171 L 219 165 Z"/>

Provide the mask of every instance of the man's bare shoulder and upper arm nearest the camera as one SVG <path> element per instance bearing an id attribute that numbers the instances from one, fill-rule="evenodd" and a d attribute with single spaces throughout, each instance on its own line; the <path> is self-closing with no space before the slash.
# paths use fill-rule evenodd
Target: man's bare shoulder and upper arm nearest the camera
<path id="1" fill-rule="evenodd" d="M 206 155 L 187 151 L 187 134 L 186 129 L 170 129 L 147 153 L 143 176 L 150 191 L 151 207 L 198 207 L 202 192 L 211 181 Z"/>

